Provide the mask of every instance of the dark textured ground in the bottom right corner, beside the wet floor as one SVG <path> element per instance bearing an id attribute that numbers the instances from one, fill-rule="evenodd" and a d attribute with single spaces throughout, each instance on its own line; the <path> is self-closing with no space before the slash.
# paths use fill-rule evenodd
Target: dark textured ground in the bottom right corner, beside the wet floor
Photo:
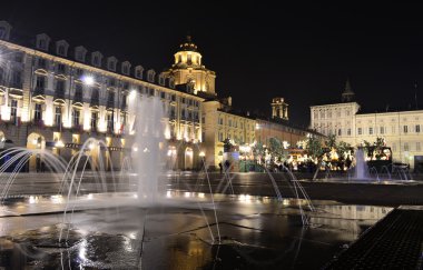
<path id="1" fill-rule="evenodd" d="M 365 231 L 324 269 L 422 269 L 422 208 L 401 207 Z"/>

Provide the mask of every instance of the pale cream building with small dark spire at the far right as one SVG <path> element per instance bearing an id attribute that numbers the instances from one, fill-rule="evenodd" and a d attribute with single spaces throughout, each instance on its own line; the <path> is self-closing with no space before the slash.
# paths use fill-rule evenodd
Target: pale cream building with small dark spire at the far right
<path id="1" fill-rule="evenodd" d="M 383 138 L 394 162 L 407 163 L 411 168 L 422 162 L 423 110 L 364 113 L 353 98 L 347 82 L 342 94 L 344 102 L 312 106 L 309 128 L 326 136 L 336 134 L 337 140 L 354 147 Z"/>

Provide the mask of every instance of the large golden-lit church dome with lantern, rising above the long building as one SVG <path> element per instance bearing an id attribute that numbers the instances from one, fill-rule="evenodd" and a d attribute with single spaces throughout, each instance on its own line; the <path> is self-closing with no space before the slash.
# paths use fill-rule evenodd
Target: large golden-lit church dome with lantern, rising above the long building
<path id="1" fill-rule="evenodd" d="M 190 36 L 187 36 L 179 46 L 179 50 L 175 53 L 174 64 L 164 73 L 167 77 L 173 77 L 175 84 L 191 83 L 196 94 L 206 92 L 216 96 L 216 73 L 203 64 L 203 56 L 198 52 L 198 48 Z"/>

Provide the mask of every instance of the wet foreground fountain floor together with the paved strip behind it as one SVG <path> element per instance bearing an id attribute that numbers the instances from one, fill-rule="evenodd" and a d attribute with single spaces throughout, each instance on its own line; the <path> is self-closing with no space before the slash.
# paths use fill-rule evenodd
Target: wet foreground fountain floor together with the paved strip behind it
<path id="1" fill-rule="evenodd" d="M 168 173 L 153 203 L 136 176 L 86 173 L 78 192 L 50 173 L 1 180 L 0 269 L 321 269 L 394 207 L 423 204 L 420 181 L 272 178 Z"/>

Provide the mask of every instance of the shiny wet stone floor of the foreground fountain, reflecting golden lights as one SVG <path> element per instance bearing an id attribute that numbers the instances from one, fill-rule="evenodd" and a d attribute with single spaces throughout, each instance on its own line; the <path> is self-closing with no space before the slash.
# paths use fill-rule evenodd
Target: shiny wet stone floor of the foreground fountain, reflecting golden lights
<path id="1" fill-rule="evenodd" d="M 60 197 L 10 199 L 0 212 L 0 267 L 319 269 L 392 210 L 313 201 L 311 212 L 304 200 L 215 196 L 216 222 L 209 201 L 205 193 L 168 191 L 161 204 L 141 208 L 134 193 L 88 194 L 63 227 Z M 67 241 L 58 242 L 60 230 Z"/>

